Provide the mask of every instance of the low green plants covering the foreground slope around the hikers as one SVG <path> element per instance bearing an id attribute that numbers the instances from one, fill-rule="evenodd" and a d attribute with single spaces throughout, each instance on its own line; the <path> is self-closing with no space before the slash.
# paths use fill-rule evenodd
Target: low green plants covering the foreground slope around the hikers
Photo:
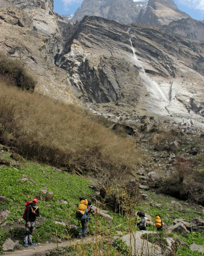
<path id="1" fill-rule="evenodd" d="M 68 253 L 79 256 L 91 255 L 91 253 L 99 255 L 102 252 L 104 256 L 130 256 L 130 251 L 122 241 L 116 240 L 112 244 L 110 244 L 110 241 L 113 240 L 113 237 L 118 236 L 119 232 L 123 236 L 131 231 L 138 230 L 135 225 L 136 217 L 134 215 L 138 210 L 149 214 L 153 222 L 155 214 L 161 214 L 165 225 L 171 224 L 175 218 L 183 218 L 189 221 L 197 215 L 203 216 L 203 213 L 199 211 L 196 205 L 185 204 L 185 202 L 179 202 L 173 197 L 155 194 L 153 191 L 148 191 L 148 200 L 146 201 L 139 201 L 137 198 L 137 204 L 131 204 L 129 198 L 126 197 L 126 209 L 129 209 L 129 211 L 121 215 L 114 212 L 105 203 L 100 205 L 95 203 L 96 191 L 90 189 L 91 181 L 49 165 L 27 161 L 21 156 L 18 159 L 14 159 L 13 156 L 11 157 L 11 153 L 11 148 L 0 145 L 0 159 L 5 160 L 5 163 L 0 165 L 0 195 L 8 199 L 7 203 L 0 204 L 0 211 L 9 210 L 11 212 L 4 222 L 4 226 L 0 226 L 0 252 L 2 253 L 1 246 L 7 237 L 11 237 L 14 241 L 17 239 L 20 241 L 20 245 L 23 245 L 23 224 L 25 221 L 22 219 L 22 215 L 25 209 L 25 202 L 34 197 L 39 198 L 40 217 L 36 222 L 32 240 L 35 243 L 39 243 L 39 245 L 45 242 L 55 242 L 56 236 L 58 240 L 71 239 L 71 241 L 74 241 L 76 239 L 80 223 L 75 218 L 75 212 L 79 204 L 79 197 L 82 195 L 91 198 L 93 204 L 98 206 L 98 209 L 103 207 L 107 209 L 108 214 L 113 217 L 110 223 L 98 214 L 91 218 L 88 236 L 100 237 L 101 244 L 97 245 L 92 242 L 92 245 L 83 247 L 80 245 L 75 245 L 72 248 L 68 246 L 66 250 L 64 249 L 60 252 L 60 255 L 68 255 Z M 49 199 L 48 195 L 43 195 L 42 190 L 45 189 L 54 194 L 52 199 Z M 144 190 L 142 192 L 144 193 Z M 111 191 L 109 193 L 111 194 Z M 119 197 L 121 197 L 121 194 L 118 194 Z M 161 206 L 151 206 L 151 201 L 160 203 Z M 178 205 L 182 204 L 183 210 L 171 207 L 172 201 L 175 201 Z M 55 221 L 64 223 L 64 225 L 55 225 Z M 148 224 L 147 229 L 155 231 L 155 226 L 152 222 Z M 161 234 L 163 242 L 165 242 L 166 231 L 165 228 L 165 234 Z M 184 240 L 189 246 L 192 243 L 202 246 L 204 242 L 203 235 L 204 233 L 198 232 L 192 232 L 189 236 L 179 233 L 168 234 L 168 236 L 173 236 L 178 241 L 179 239 Z M 22 247 L 18 246 L 17 249 L 22 249 Z M 57 250 L 50 252 L 48 255 L 52 254 L 58 255 Z M 201 255 L 201 253 L 191 251 L 178 244 L 177 255 L 197 256 Z"/>

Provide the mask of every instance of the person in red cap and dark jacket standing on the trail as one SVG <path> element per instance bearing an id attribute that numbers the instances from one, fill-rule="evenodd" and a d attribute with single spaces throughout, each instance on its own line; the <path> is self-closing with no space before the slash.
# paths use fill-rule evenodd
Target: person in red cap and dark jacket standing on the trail
<path id="1" fill-rule="evenodd" d="M 32 231 L 35 226 L 36 217 L 40 214 L 39 208 L 37 206 L 37 199 L 32 200 L 26 211 L 26 224 L 25 224 L 25 235 L 24 235 L 24 247 L 29 245 L 35 245 L 32 242 Z"/>

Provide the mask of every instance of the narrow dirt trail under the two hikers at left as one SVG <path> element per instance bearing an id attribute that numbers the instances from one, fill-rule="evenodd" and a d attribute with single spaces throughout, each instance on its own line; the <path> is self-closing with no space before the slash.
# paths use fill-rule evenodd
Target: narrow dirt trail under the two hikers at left
<path id="1" fill-rule="evenodd" d="M 58 243 L 59 249 L 70 246 L 70 245 L 75 245 L 75 244 L 86 244 L 90 243 L 91 240 L 93 240 L 93 237 L 87 237 L 87 240 L 82 241 L 79 239 L 74 239 L 74 240 L 69 240 L 66 242 Z M 95 240 L 95 239 L 94 239 Z M 28 246 L 27 248 L 22 246 L 22 249 L 12 251 L 12 252 L 5 252 L 4 255 L 6 256 L 43 256 L 46 255 L 46 253 L 52 249 L 57 249 L 57 244 L 54 243 L 49 243 L 49 244 L 42 244 L 42 245 L 34 245 L 34 246 Z"/>

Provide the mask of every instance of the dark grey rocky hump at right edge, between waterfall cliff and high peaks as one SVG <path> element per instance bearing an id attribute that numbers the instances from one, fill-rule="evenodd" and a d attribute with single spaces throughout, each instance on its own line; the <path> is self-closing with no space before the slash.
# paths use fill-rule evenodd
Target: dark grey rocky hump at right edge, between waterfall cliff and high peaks
<path id="1" fill-rule="evenodd" d="M 164 30 L 169 34 L 204 42 L 204 23 L 191 18 L 173 21 Z"/>

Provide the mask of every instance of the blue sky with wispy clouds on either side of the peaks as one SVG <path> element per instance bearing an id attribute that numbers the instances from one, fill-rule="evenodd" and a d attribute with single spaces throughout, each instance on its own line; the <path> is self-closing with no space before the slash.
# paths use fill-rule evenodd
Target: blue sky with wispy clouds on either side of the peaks
<path id="1" fill-rule="evenodd" d="M 54 12 L 74 14 L 83 0 L 54 0 Z M 133 0 L 136 2 L 135 0 Z M 140 0 L 143 1 L 143 0 Z M 195 20 L 204 20 L 204 0 L 174 0 L 179 10 L 186 12 Z"/>

